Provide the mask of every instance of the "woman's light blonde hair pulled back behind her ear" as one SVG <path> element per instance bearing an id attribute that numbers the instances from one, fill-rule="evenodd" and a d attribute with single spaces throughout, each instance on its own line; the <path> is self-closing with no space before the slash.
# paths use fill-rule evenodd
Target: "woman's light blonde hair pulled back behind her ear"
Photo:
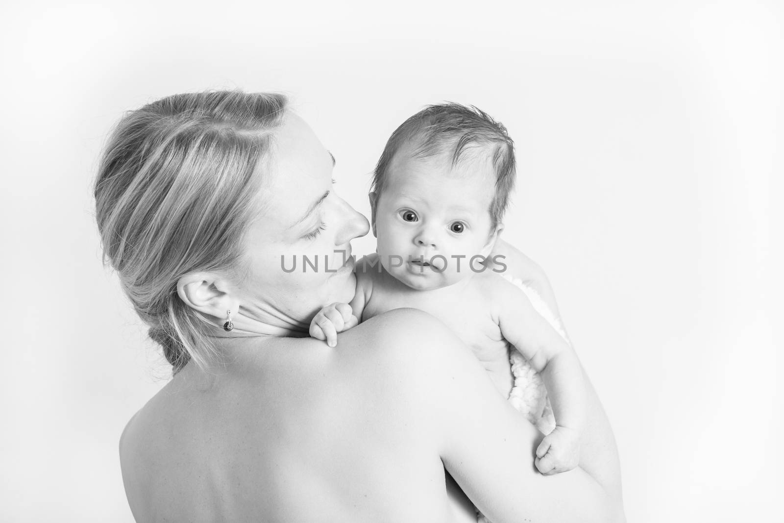
<path id="1" fill-rule="evenodd" d="M 235 274 L 259 211 L 262 158 L 286 98 L 218 91 L 168 96 L 129 111 L 95 183 L 103 263 L 117 271 L 173 372 L 215 356 L 212 325 L 177 295 L 196 271 Z"/>

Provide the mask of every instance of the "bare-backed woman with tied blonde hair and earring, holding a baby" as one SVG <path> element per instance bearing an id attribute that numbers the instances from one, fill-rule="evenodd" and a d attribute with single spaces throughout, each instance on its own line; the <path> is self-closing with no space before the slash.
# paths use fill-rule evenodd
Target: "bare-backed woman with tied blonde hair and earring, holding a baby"
<path id="1" fill-rule="evenodd" d="M 368 232 L 333 162 L 278 95 L 171 96 L 115 130 L 95 191 L 104 252 L 175 372 L 122 435 L 136 520 L 465 518 L 445 469 L 496 523 L 622 520 L 593 390 L 581 467 L 544 477 L 535 428 L 434 318 L 383 314 L 336 349 L 307 337 L 353 296 L 335 252 Z M 284 271 L 292 256 L 321 271 Z"/>

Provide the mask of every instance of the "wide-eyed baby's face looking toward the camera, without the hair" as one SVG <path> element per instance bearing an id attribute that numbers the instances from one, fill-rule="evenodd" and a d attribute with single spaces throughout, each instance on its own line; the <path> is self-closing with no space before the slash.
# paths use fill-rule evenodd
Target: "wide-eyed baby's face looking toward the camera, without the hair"
<path id="1" fill-rule="evenodd" d="M 495 242 L 490 204 L 495 173 L 489 161 L 452 168 L 437 155 L 412 159 L 400 151 L 383 194 L 376 197 L 373 232 L 384 269 L 412 289 L 453 285 L 481 269 Z M 492 234 L 491 234 L 492 232 Z"/>

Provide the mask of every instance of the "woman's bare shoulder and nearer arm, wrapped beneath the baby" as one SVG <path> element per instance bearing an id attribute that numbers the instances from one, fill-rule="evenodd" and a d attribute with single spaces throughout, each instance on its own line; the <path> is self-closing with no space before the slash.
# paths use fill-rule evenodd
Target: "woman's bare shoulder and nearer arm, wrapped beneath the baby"
<path id="1" fill-rule="evenodd" d="M 432 438 L 446 469 L 491 521 L 622 521 L 612 485 L 586 473 L 583 463 L 556 476 L 535 470 L 541 434 L 499 396 L 445 325 L 421 311 L 383 316 L 398 325 L 397 357 L 408 362 L 401 385 L 417 398 L 423 438 Z M 601 461 L 586 464 L 608 470 Z M 612 470 L 606 476 L 612 479 Z"/>

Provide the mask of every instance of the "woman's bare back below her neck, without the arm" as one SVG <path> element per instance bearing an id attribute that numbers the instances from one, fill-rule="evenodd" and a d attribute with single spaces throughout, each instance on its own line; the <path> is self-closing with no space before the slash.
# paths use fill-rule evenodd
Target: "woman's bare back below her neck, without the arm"
<path id="1" fill-rule="evenodd" d="M 180 372 L 122 437 L 136 520 L 451 521 L 443 464 L 416 398 L 389 381 L 401 372 L 377 326 L 336 349 L 257 339 L 211 386 Z"/>

